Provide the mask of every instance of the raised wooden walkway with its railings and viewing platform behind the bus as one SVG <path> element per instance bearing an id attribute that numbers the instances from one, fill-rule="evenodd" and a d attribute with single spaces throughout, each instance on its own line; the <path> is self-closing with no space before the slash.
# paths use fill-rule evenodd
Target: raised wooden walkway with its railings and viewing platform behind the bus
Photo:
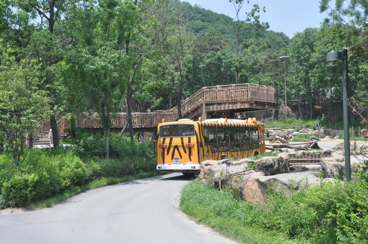
<path id="1" fill-rule="evenodd" d="M 194 119 L 202 117 L 203 120 L 213 117 L 214 113 L 226 114 L 228 118 L 237 112 L 251 112 L 272 110 L 276 108 L 275 89 L 273 87 L 254 84 L 236 84 L 225 86 L 203 87 L 182 102 L 182 114 L 185 118 Z M 132 113 L 133 128 L 136 131 L 153 131 L 162 119 L 165 122 L 178 120 L 178 107 L 170 110 L 161 110 L 152 113 Z M 87 128 L 88 131 L 101 131 L 103 126 L 98 122 L 95 113 L 79 113 L 77 127 Z M 120 131 L 127 122 L 126 113 L 117 113 L 111 116 L 112 131 Z M 67 118 L 57 122 L 59 135 L 65 128 L 70 127 Z M 50 120 L 40 122 L 40 131 L 50 131 Z M 45 133 L 44 133 L 45 134 Z M 47 136 L 46 136 L 47 137 Z M 50 136 L 48 137 L 50 138 Z M 36 142 L 37 137 L 35 137 Z"/>

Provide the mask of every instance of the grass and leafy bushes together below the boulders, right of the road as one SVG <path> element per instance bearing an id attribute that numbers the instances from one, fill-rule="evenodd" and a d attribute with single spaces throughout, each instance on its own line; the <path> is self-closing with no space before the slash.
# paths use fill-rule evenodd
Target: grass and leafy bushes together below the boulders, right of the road
<path id="1" fill-rule="evenodd" d="M 326 182 L 295 192 L 271 188 L 267 201 L 261 204 L 244 202 L 213 186 L 191 182 L 183 189 L 181 208 L 210 225 L 214 221 L 209 216 L 220 217 L 223 224 L 213 226 L 216 229 L 225 228 L 229 221 L 237 221 L 269 234 L 278 233 L 274 241 L 263 243 L 285 243 L 285 240 L 279 242 L 280 234 L 295 243 L 366 243 L 368 186 L 365 173 L 357 177 L 360 179 L 357 182 Z M 247 243 L 253 243 L 254 233 L 246 235 Z M 242 235 L 232 237 L 239 240 Z"/>

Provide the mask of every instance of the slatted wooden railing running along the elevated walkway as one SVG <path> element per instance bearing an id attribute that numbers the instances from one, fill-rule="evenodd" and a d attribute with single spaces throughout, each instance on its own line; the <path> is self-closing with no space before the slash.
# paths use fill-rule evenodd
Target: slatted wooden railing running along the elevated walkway
<path id="1" fill-rule="evenodd" d="M 188 115 L 199 109 L 202 104 L 210 103 L 231 103 L 241 101 L 259 101 L 259 102 L 275 102 L 275 89 L 254 84 L 236 84 L 225 86 L 204 87 L 192 96 L 186 98 L 182 102 L 182 114 Z M 96 117 L 97 115 L 97 117 Z M 79 113 L 77 115 L 77 127 L 85 128 L 102 128 L 99 123 L 98 114 L 96 113 Z M 170 110 L 161 110 L 153 113 L 132 113 L 133 127 L 154 127 L 162 122 L 176 121 L 178 116 L 178 107 Z M 111 116 L 112 127 L 122 128 L 127 122 L 126 113 L 118 113 Z M 40 122 L 40 130 L 46 131 L 51 128 L 50 118 Z M 64 132 L 65 128 L 70 126 L 68 119 L 57 122 L 59 134 Z"/>

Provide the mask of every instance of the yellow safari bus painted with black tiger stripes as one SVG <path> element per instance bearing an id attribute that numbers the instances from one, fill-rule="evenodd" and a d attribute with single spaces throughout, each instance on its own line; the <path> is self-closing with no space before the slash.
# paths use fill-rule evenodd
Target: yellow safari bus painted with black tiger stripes
<path id="1" fill-rule="evenodd" d="M 204 160 L 241 159 L 264 152 L 264 124 L 256 118 L 158 124 L 158 171 L 198 173 Z"/>

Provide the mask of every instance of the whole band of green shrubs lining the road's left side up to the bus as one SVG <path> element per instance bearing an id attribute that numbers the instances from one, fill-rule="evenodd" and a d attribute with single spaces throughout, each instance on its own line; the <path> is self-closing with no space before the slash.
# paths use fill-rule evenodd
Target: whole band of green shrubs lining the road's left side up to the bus
<path id="1" fill-rule="evenodd" d="M 0 155 L 0 208 L 27 206 L 88 182 L 156 170 L 153 144 L 131 143 L 127 138 L 111 140 L 113 159 L 106 160 L 104 138 L 84 134 L 78 146 L 65 149 L 31 149 L 18 166 Z M 104 148 L 102 146 L 102 148 Z M 82 160 L 83 159 L 83 160 Z"/>

